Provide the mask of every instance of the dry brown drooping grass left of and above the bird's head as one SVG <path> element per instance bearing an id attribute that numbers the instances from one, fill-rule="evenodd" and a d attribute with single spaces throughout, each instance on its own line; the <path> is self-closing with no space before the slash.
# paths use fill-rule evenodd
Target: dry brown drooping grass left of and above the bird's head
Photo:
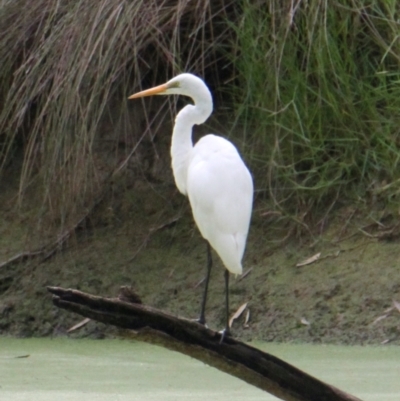
<path id="1" fill-rule="evenodd" d="M 35 193 L 43 216 L 61 225 L 76 219 L 131 151 L 115 146 L 115 162 L 102 169 L 94 150 L 101 130 L 117 127 L 109 139 L 131 147 L 144 137 L 143 122 L 128 117 L 127 96 L 181 71 L 210 76 L 221 53 L 223 3 L 2 2 L 0 162 L 4 173 L 23 158 L 20 202 L 30 187 L 42 188 Z"/>

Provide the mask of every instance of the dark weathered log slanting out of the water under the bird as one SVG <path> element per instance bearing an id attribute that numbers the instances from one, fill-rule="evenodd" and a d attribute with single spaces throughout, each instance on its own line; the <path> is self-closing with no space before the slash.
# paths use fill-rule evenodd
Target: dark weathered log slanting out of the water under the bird
<path id="1" fill-rule="evenodd" d="M 48 287 L 59 307 L 99 322 L 134 330 L 137 340 L 181 352 L 286 401 L 361 401 L 281 359 L 225 337 L 195 321 L 141 303 Z M 135 296 L 129 297 L 135 299 Z M 140 300 L 140 298 L 138 297 Z"/>

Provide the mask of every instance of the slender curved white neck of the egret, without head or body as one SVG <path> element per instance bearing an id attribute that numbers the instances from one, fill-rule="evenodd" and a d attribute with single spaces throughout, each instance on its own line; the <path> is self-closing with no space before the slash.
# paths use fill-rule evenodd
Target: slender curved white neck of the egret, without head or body
<path id="1" fill-rule="evenodd" d="M 172 171 L 176 186 L 184 195 L 187 194 L 187 170 L 193 149 L 193 125 L 206 121 L 213 108 L 211 94 L 207 88 L 193 97 L 193 100 L 194 105 L 187 105 L 176 116 L 172 133 Z"/>

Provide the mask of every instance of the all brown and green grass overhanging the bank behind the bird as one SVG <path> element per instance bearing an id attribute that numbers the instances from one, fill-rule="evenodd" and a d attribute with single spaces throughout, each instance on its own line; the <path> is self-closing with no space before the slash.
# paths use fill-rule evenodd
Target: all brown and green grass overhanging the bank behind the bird
<path id="1" fill-rule="evenodd" d="M 42 216 L 76 220 L 170 118 L 168 107 L 135 115 L 127 95 L 181 71 L 233 99 L 220 119 L 283 213 L 367 195 L 396 203 L 395 0 L 26 4 L 0 2 L 0 162 L 4 178 L 22 160 L 19 204 L 34 192 Z"/>

